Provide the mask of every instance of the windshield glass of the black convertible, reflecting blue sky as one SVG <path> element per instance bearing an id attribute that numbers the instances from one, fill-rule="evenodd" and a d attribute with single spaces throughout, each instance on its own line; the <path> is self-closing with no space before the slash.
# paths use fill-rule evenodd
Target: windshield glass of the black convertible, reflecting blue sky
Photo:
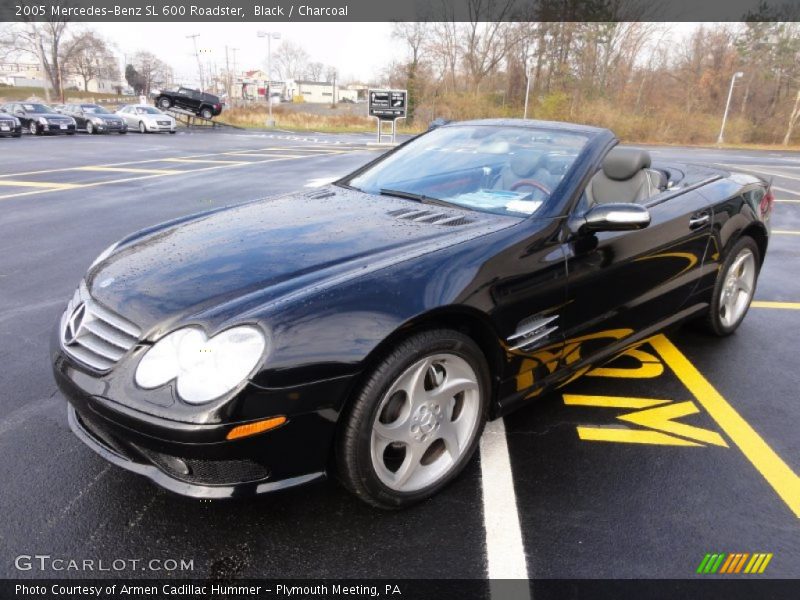
<path id="1" fill-rule="evenodd" d="M 369 194 L 525 217 L 544 205 L 586 141 L 527 126 L 441 127 L 343 183 Z"/>

